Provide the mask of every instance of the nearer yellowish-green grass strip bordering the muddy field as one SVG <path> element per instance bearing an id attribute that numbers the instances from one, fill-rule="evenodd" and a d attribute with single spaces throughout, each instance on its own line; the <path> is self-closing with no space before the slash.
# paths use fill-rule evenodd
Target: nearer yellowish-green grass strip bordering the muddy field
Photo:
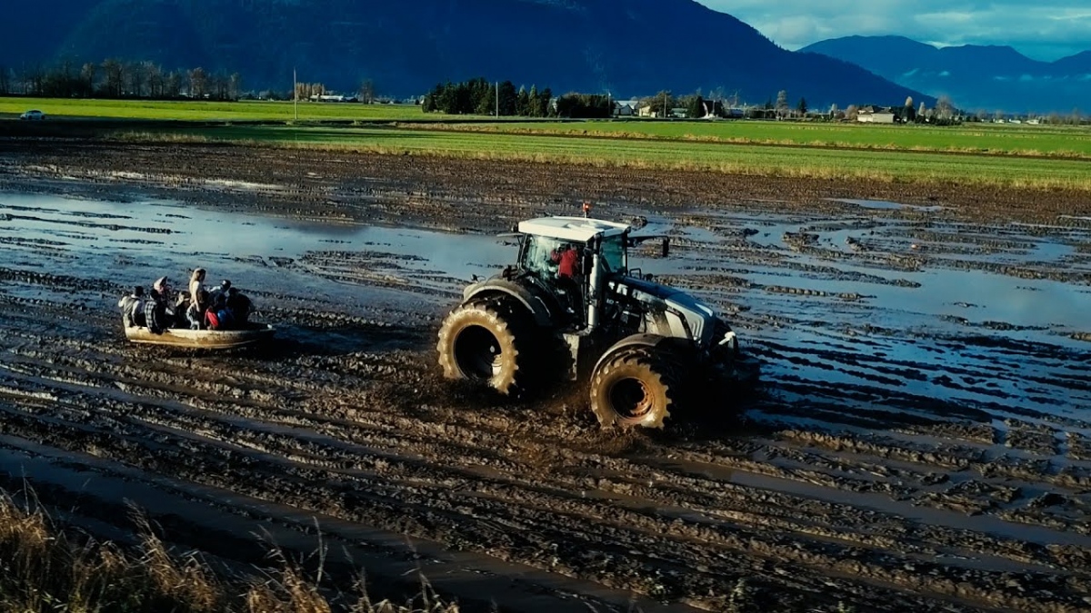
<path id="1" fill-rule="evenodd" d="M 232 141 L 391 155 L 408 153 L 603 167 L 671 168 L 781 177 L 852 177 L 906 182 L 943 181 L 1091 191 L 1091 161 L 1048 157 L 436 131 L 393 125 L 231 125 L 169 133 L 128 133 L 119 136 L 136 140 Z"/>

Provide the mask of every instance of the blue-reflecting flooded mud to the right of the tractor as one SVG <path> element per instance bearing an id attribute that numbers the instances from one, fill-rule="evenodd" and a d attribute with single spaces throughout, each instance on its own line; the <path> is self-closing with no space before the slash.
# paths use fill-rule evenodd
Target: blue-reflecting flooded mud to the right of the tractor
<path id="1" fill-rule="evenodd" d="M 921 223 L 912 219 L 851 211 L 837 220 L 680 217 L 687 226 L 648 218 L 655 231 L 673 228 L 672 259 L 646 260 L 642 268 L 731 313 L 762 347 L 771 378 L 801 386 L 800 402 L 829 396 L 847 402 L 846 412 L 864 413 L 890 411 L 897 399 L 909 413 L 940 419 L 957 404 L 1002 418 L 1071 418 L 1086 428 L 1091 389 L 1072 369 L 1091 349 L 1079 338 L 1091 281 L 1088 262 L 1070 249 L 1091 238 L 1086 230 L 1019 225 L 1000 238 L 988 228 L 927 221 L 932 251 L 976 237 L 990 251 L 985 265 L 922 252 Z M 997 262 L 1006 268 L 992 266 Z M 847 401 L 846 388 L 859 400 Z"/>

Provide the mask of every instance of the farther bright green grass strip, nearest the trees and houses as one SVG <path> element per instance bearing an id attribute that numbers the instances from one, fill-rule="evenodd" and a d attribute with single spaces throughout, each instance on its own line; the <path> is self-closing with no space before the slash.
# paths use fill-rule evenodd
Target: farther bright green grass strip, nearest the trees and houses
<path id="1" fill-rule="evenodd" d="M 59 118 L 190 121 L 295 121 L 285 101 L 145 101 L 0 98 L 0 116 L 37 108 Z M 608 139 L 709 141 L 759 145 L 942 151 L 999 155 L 1091 158 L 1091 129 L 969 123 L 959 127 L 800 123 L 780 121 L 580 121 L 455 123 L 467 118 L 429 113 L 412 105 L 300 103 L 299 121 L 428 121 L 435 130 L 554 134 Z"/>

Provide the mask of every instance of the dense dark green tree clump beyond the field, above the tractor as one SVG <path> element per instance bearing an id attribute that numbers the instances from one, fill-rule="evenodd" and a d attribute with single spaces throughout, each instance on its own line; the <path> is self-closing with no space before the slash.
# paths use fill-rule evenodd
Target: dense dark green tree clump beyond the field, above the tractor
<path id="1" fill-rule="evenodd" d="M 549 104 L 552 97 L 549 87 L 541 92 L 535 85 L 530 86 L 530 91 L 525 87 L 516 89 L 511 81 L 497 86 L 478 77 L 463 83 L 448 81 L 436 84 L 424 96 L 421 109 L 448 115 L 550 117 L 553 112 Z"/>

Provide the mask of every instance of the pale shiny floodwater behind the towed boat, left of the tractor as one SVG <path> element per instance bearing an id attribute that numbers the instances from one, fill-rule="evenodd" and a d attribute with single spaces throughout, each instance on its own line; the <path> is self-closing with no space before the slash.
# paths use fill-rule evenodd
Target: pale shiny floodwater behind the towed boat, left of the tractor
<path id="1" fill-rule="evenodd" d="M 167 275 L 184 287 L 187 273 L 202 266 L 212 283 L 349 304 L 361 299 L 356 286 L 446 298 L 513 251 L 473 235 L 15 193 L 0 193 L 0 243 L 12 269 L 108 273 L 121 286 L 145 287 Z"/>

